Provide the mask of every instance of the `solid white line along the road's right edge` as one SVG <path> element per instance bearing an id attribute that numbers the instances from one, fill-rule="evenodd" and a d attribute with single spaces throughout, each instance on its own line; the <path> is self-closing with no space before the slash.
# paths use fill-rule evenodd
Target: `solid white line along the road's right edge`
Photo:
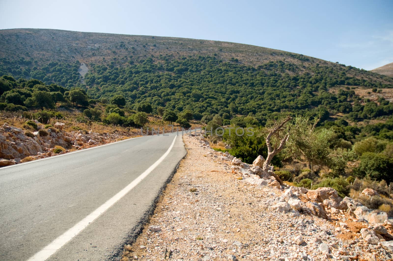
<path id="1" fill-rule="evenodd" d="M 124 195 L 126 195 L 131 189 L 133 189 L 139 182 L 141 182 L 147 175 L 149 175 L 153 169 L 155 169 L 168 154 L 171 152 L 173 148 L 174 142 L 176 140 L 176 136 L 174 136 L 173 142 L 171 146 L 169 146 L 168 150 L 156 161 L 153 165 L 151 165 L 148 169 L 146 169 L 141 175 L 139 175 L 136 179 L 134 179 L 127 187 L 123 188 L 116 195 L 114 195 L 111 199 L 107 200 L 104 204 L 99 206 L 96 210 L 90 213 L 87 217 L 79 221 L 75 226 L 67 230 L 65 233 L 57 237 L 50 244 L 45 246 L 40 252 L 33 255 L 28 259 L 28 261 L 44 261 L 48 259 L 51 255 L 53 255 L 57 250 L 59 250 L 64 244 L 70 241 L 75 235 L 81 232 L 88 224 L 93 222 L 99 215 L 104 213 L 108 208 L 110 208 L 113 204 L 115 204 L 119 199 L 121 199 Z"/>

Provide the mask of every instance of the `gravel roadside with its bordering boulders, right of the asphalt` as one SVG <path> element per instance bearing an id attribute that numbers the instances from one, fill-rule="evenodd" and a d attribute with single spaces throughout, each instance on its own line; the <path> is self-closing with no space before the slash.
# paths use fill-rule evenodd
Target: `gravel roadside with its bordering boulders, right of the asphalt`
<path id="1" fill-rule="evenodd" d="M 187 157 L 123 261 L 392 259 L 393 223 L 367 222 L 353 199 L 281 184 L 262 157 L 245 164 L 201 136 L 184 141 Z"/>

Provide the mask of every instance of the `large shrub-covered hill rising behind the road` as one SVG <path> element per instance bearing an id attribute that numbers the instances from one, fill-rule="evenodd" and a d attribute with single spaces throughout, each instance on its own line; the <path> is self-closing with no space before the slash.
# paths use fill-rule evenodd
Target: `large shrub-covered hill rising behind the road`
<path id="1" fill-rule="evenodd" d="M 92 99 L 121 95 L 129 111 L 143 102 L 153 112 L 159 107 L 189 110 L 196 119 L 219 114 L 229 121 L 252 115 L 263 124 L 289 111 L 323 119 L 353 112 L 350 118 L 361 120 L 393 110 L 382 101 L 364 110 L 369 99 L 354 92 L 374 89 L 383 95 L 382 89 L 393 88 L 392 77 L 302 54 L 212 40 L 5 29 L 0 30 L 1 75 L 82 88 Z M 340 90 L 332 94 L 333 88 Z"/>

